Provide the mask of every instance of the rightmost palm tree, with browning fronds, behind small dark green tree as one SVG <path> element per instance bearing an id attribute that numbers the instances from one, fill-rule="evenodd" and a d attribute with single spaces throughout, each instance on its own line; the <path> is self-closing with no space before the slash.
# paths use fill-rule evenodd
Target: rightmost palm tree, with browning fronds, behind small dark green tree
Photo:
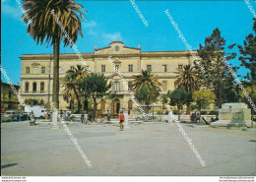
<path id="1" fill-rule="evenodd" d="M 198 79 L 197 79 L 197 72 L 194 70 L 194 67 L 191 65 L 185 65 L 184 69 L 178 70 L 179 74 L 177 76 L 176 81 L 174 82 L 174 86 L 177 89 L 183 89 L 184 91 L 190 92 L 192 96 L 192 92 L 198 90 Z M 187 99 L 187 110 L 186 114 L 190 113 L 190 100 Z"/>

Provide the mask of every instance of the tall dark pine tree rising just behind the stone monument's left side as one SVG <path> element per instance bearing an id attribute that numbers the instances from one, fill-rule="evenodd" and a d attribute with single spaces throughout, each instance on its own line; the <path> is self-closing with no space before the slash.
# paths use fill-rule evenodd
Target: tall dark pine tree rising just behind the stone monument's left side
<path id="1" fill-rule="evenodd" d="M 201 65 L 205 70 L 203 74 L 201 69 L 195 64 L 195 67 L 199 71 L 201 85 L 204 89 L 210 89 L 216 94 L 216 103 L 219 108 L 222 107 L 223 102 L 233 101 L 233 98 L 226 95 L 226 92 L 233 92 L 233 78 L 228 72 L 228 68 L 225 66 L 225 60 L 231 60 L 235 58 L 235 53 L 225 53 L 225 39 L 221 36 L 221 31 L 216 29 L 213 33 L 206 37 L 205 45 L 199 45 L 198 55 L 201 58 Z M 231 47 L 234 45 L 231 45 Z M 225 57 L 225 59 L 224 59 Z M 236 71 L 237 68 L 232 68 Z M 235 94 L 233 92 L 233 95 Z M 232 98 L 232 100 L 230 100 Z M 238 97 L 235 97 L 238 99 Z"/>

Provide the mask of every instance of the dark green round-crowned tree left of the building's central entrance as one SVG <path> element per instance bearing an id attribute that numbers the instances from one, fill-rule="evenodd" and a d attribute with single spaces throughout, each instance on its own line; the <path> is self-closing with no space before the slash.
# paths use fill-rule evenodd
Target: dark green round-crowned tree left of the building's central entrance
<path id="1" fill-rule="evenodd" d="M 101 99 L 106 98 L 108 90 L 111 88 L 111 83 L 103 75 L 91 73 L 86 78 L 78 81 L 78 87 L 82 94 L 86 97 L 91 97 L 94 102 L 93 119 L 96 119 L 96 106 Z"/>

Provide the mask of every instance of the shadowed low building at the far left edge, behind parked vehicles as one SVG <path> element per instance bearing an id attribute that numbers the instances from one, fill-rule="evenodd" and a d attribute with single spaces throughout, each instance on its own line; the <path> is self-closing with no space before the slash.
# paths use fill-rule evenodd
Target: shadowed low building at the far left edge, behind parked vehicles
<path id="1" fill-rule="evenodd" d="M 19 91 L 19 84 L 14 85 L 14 88 Z M 12 90 L 9 84 L 2 83 L 1 81 L 1 112 L 5 112 L 9 109 L 19 109 L 18 96 Z"/>

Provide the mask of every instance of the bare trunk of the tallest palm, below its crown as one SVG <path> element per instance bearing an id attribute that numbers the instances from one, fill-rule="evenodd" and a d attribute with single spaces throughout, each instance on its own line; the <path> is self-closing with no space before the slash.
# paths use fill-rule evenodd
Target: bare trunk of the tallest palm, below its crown
<path id="1" fill-rule="evenodd" d="M 53 39 L 53 93 L 52 102 L 59 108 L 59 39 Z"/>

